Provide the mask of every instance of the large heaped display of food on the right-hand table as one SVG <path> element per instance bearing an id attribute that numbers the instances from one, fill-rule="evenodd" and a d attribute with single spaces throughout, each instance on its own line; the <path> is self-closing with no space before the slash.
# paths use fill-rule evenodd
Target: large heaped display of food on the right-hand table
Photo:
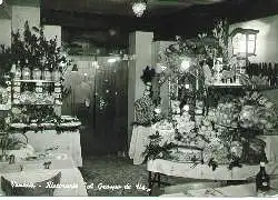
<path id="1" fill-rule="evenodd" d="M 160 147 L 158 158 L 231 166 L 257 164 L 258 158 L 266 158 L 265 143 L 257 136 L 277 127 L 274 103 L 268 99 L 258 92 L 247 92 L 244 97 L 221 100 L 207 114 L 199 114 L 201 103 L 197 104 L 198 114 L 195 112 L 192 118 L 192 113 L 178 109 L 178 101 L 171 102 L 171 119 L 156 126 L 161 137 L 157 143 Z M 163 129 L 171 133 L 165 134 Z"/>

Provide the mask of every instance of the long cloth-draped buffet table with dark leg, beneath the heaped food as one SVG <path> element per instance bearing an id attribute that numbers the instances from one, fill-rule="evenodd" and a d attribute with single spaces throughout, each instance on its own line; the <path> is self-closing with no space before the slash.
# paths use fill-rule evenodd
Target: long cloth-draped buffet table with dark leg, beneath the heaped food
<path id="1" fill-rule="evenodd" d="M 267 172 L 269 174 L 278 174 L 278 136 L 261 136 L 266 142 L 266 154 L 269 160 Z M 256 176 L 259 170 L 258 166 L 242 166 L 242 168 L 232 168 L 228 170 L 228 166 L 219 166 L 215 171 L 208 164 L 182 163 L 162 159 L 149 160 L 147 162 L 149 171 L 149 188 L 157 182 L 160 186 L 160 174 L 183 177 L 202 180 L 247 180 Z"/>

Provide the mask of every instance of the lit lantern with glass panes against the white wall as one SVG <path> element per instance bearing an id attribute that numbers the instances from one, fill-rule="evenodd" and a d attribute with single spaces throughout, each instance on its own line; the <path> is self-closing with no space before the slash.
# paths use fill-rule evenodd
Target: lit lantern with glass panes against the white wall
<path id="1" fill-rule="evenodd" d="M 256 56 L 258 30 L 237 28 L 231 32 L 232 54 L 237 57 Z"/>

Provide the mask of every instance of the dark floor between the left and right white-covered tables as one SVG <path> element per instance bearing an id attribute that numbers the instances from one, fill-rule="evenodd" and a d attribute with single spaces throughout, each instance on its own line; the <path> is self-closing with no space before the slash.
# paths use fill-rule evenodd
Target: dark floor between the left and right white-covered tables
<path id="1" fill-rule="evenodd" d="M 90 197 L 147 197 L 149 196 L 148 188 L 148 172 L 146 163 L 133 166 L 128 158 L 117 156 L 106 157 L 88 157 L 83 158 L 83 168 L 80 169 L 85 181 L 88 184 L 93 183 L 93 188 L 88 189 Z M 188 179 L 161 177 L 161 181 L 170 184 L 185 183 Z M 103 189 L 100 186 L 121 186 L 122 188 Z M 123 189 L 126 184 L 131 188 Z M 140 184 L 140 188 L 136 186 Z M 151 196 L 158 197 L 163 194 L 163 186 L 153 188 Z"/>

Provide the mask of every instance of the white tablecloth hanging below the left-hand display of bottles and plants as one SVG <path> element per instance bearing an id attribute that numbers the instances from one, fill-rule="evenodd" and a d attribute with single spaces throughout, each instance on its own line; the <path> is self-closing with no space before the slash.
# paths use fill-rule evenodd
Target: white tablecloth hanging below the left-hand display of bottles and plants
<path id="1" fill-rule="evenodd" d="M 82 167 L 79 131 L 64 131 L 60 134 L 56 130 L 44 130 L 37 133 L 28 131 L 26 136 L 36 151 L 44 151 L 48 148 L 58 147 L 57 152 L 67 153 L 72 158 L 76 167 Z"/>

